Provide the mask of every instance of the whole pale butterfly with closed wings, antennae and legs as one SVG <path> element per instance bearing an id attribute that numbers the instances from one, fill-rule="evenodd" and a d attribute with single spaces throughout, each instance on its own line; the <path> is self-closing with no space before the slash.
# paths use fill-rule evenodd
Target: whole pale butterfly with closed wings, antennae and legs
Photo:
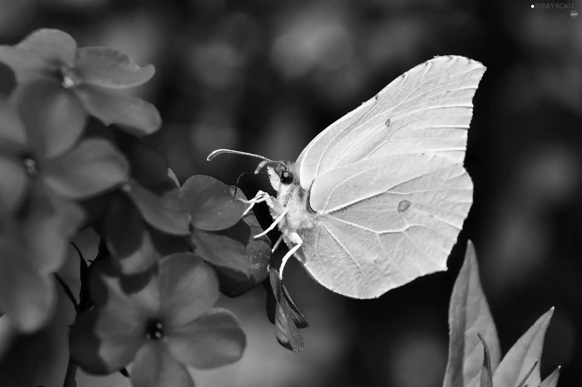
<path id="1" fill-rule="evenodd" d="M 258 191 L 295 256 L 333 292 L 377 298 L 413 279 L 446 270 L 473 203 L 463 167 L 473 96 L 485 67 L 437 56 L 406 71 L 320 132 L 297 160 L 253 153 L 267 166 L 276 197 Z"/>

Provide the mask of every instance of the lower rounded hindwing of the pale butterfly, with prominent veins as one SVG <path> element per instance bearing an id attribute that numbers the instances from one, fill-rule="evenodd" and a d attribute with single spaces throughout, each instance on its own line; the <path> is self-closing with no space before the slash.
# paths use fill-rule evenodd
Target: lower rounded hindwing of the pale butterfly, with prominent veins
<path id="1" fill-rule="evenodd" d="M 333 169 L 311 187 L 318 221 L 299 231 L 299 258 L 334 292 L 381 296 L 446 270 L 472 197 L 463 166 L 440 155 L 374 157 Z"/>

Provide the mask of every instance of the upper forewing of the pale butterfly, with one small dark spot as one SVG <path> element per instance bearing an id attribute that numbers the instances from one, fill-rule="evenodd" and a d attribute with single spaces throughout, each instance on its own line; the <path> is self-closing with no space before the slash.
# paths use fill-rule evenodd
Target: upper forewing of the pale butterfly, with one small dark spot
<path id="1" fill-rule="evenodd" d="M 462 56 L 439 56 L 407 71 L 307 145 L 296 162 L 301 187 L 326 171 L 384 155 L 439 152 L 462 163 L 471 100 L 484 71 Z"/>

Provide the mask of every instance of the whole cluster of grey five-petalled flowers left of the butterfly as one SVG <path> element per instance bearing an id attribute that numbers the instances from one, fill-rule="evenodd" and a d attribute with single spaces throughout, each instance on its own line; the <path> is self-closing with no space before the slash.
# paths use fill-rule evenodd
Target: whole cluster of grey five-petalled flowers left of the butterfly
<path id="1" fill-rule="evenodd" d="M 253 238 L 262 230 L 240 191 L 205 175 L 180 186 L 144 143 L 158 110 L 120 89 L 154 66 L 51 29 L 0 45 L 0 62 L 17 81 L 0 98 L 0 313 L 37 331 L 58 280 L 77 311 L 72 361 L 93 374 L 132 364 L 134 386 L 191 386 L 187 366 L 240 359 L 239 321 L 212 307 L 268 277 L 270 241 Z M 77 302 L 55 273 L 87 227 L 100 253 L 89 266 L 81 256 Z"/>

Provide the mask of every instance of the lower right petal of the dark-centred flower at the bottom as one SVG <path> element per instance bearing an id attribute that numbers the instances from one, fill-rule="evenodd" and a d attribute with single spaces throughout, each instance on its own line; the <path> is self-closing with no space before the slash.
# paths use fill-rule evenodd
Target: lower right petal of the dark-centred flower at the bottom
<path id="1" fill-rule="evenodd" d="M 247 345 L 239 319 L 229 310 L 216 308 L 189 324 L 168 332 L 168 350 L 180 362 L 194 368 L 215 368 L 238 361 Z"/>

